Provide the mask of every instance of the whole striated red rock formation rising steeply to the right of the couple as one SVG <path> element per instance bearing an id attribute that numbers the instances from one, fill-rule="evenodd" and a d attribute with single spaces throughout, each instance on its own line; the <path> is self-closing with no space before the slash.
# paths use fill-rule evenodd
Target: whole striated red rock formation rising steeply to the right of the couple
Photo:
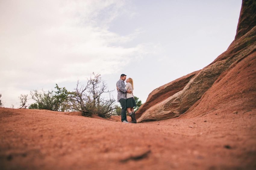
<path id="1" fill-rule="evenodd" d="M 185 114 L 182 116 L 187 116 L 192 112 L 194 115 L 207 114 L 211 110 L 216 110 L 217 106 L 222 106 L 220 102 L 226 94 L 229 94 L 229 98 L 226 97 L 225 101 L 233 99 L 232 96 L 237 96 L 239 101 L 243 103 L 245 100 L 241 99 L 243 96 L 240 94 L 241 91 L 238 92 L 235 90 L 236 88 L 233 87 L 238 82 L 240 82 L 240 84 L 237 84 L 237 87 L 243 89 L 242 94 L 245 94 L 246 91 L 254 94 L 256 89 L 255 9 L 256 3 L 254 1 L 243 1 L 236 37 L 229 48 L 202 70 L 183 76 L 180 79 L 174 80 L 152 91 L 146 103 L 138 110 L 136 115 L 138 118 L 137 121 L 142 122 L 174 118 L 184 113 Z M 251 64 L 246 66 L 247 63 Z M 241 69 L 248 71 L 246 73 L 244 71 L 240 73 L 239 70 Z M 239 72 L 241 76 L 236 75 L 235 71 Z M 253 79 L 244 78 L 248 75 L 251 75 Z M 239 79 L 239 77 L 241 79 Z M 223 82 L 224 80 L 226 82 Z M 179 83 L 181 84 L 178 85 Z M 227 84 L 229 84 L 229 86 L 227 86 Z M 225 90 L 223 88 L 225 88 Z M 227 90 L 229 90 L 229 93 Z M 247 99 L 250 98 L 249 96 L 247 97 Z M 254 95 L 254 98 L 255 97 L 256 93 Z M 253 101 L 255 101 L 255 99 Z M 223 104 L 223 102 L 224 101 L 221 103 Z M 210 103 L 211 105 L 209 105 Z M 256 103 L 250 102 L 250 104 L 248 104 L 248 108 L 252 106 L 255 107 Z M 226 107 L 228 107 L 228 105 Z"/>

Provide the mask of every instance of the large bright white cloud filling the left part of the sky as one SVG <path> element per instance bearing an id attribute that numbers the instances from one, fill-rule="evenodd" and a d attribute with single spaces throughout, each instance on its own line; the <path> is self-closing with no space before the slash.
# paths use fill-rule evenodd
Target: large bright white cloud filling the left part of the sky
<path id="1" fill-rule="evenodd" d="M 92 71 L 111 74 L 120 70 L 123 61 L 127 64 L 141 56 L 144 45 L 123 46 L 139 31 L 127 36 L 108 31 L 119 13 L 129 15 L 124 4 L 114 0 L 1 2 L 0 93 L 6 105 L 17 103 L 17 94 L 29 91 L 20 86 L 74 82 Z"/>

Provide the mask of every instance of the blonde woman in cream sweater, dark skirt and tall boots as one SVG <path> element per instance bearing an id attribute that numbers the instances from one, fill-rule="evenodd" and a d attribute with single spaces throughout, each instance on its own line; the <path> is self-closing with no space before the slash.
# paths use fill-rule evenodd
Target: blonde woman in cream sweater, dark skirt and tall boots
<path id="1" fill-rule="evenodd" d="M 126 106 L 127 106 L 127 112 L 132 118 L 131 123 L 137 123 L 136 119 L 135 119 L 135 113 L 134 113 L 134 110 L 133 110 L 133 107 L 136 106 L 136 102 L 135 102 L 134 97 L 133 97 L 133 89 L 134 88 L 133 88 L 133 79 L 132 78 L 128 78 L 126 80 L 125 89 L 126 90 L 129 89 L 130 91 L 132 91 L 131 94 L 126 93 Z"/>

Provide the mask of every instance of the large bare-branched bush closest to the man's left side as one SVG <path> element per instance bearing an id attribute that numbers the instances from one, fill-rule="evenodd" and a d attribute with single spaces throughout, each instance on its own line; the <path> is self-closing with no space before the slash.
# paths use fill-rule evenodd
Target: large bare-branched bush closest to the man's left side
<path id="1" fill-rule="evenodd" d="M 98 114 L 100 117 L 108 118 L 114 114 L 117 108 L 114 105 L 115 99 L 100 76 L 92 73 L 90 79 L 87 79 L 86 86 L 80 85 L 79 80 L 77 81 L 75 91 L 70 94 L 71 109 L 81 111 L 85 116 Z"/>

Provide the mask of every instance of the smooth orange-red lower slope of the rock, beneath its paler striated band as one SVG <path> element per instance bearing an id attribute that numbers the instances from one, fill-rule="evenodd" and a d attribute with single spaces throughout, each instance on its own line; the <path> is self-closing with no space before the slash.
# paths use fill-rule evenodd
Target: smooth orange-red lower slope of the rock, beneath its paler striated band
<path id="1" fill-rule="evenodd" d="M 256 52 L 233 63 L 192 107 L 179 118 L 225 112 L 245 114 L 256 107 Z"/>

